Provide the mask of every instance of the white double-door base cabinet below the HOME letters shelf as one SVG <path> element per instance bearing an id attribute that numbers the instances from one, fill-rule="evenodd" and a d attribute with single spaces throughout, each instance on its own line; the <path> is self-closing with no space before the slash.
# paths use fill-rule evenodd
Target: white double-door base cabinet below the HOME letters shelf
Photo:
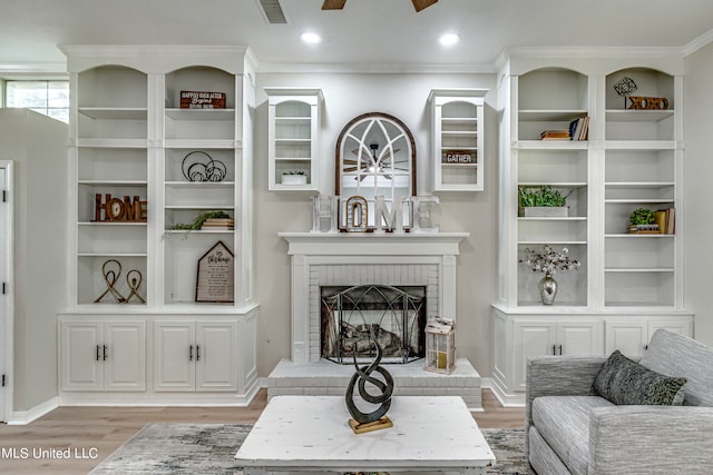
<path id="1" fill-rule="evenodd" d="M 61 320 L 62 390 L 146 390 L 145 321 Z"/>

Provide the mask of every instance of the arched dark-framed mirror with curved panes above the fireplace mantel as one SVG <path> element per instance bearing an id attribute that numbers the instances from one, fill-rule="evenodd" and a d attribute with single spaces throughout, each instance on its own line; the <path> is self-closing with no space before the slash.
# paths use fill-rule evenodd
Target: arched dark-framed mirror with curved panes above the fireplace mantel
<path id="1" fill-rule="evenodd" d="M 401 197 L 416 196 L 416 145 L 409 128 L 388 113 L 370 112 L 352 119 L 336 140 L 335 192 L 340 197 L 340 228 L 346 227 L 345 204 L 367 201 L 368 228 L 375 226 L 375 200 L 389 209 Z M 410 212 L 403 212 L 409 226 Z"/>

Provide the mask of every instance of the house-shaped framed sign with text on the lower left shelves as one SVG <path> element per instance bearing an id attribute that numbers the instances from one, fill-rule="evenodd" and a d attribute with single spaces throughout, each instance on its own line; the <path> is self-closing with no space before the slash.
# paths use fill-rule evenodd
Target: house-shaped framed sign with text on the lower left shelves
<path id="1" fill-rule="evenodd" d="M 217 241 L 201 259 L 196 278 L 196 301 L 232 303 L 234 297 L 234 256 Z"/>

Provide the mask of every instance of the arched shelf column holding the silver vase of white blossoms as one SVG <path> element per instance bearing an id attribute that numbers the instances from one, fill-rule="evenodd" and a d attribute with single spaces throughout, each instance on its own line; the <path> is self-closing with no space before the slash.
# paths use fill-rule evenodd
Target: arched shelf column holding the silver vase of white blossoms
<path id="1" fill-rule="evenodd" d="M 572 121 L 588 116 L 588 78 L 564 68 L 527 72 L 517 82 L 518 139 L 512 147 L 517 159 L 517 188 L 551 187 L 567 198 L 565 217 L 517 217 L 517 251 L 541 250 L 551 245 L 567 248 L 582 263 L 579 270 L 557 274 L 557 306 L 588 305 L 589 182 L 590 152 L 586 140 L 541 140 L 545 130 L 569 129 Z M 517 206 L 517 205 L 516 205 Z M 516 209 L 517 212 L 517 209 Z M 517 267 L 517 305 L 541 306 L 537 281 L 543 276 L 526 266 Z"/>

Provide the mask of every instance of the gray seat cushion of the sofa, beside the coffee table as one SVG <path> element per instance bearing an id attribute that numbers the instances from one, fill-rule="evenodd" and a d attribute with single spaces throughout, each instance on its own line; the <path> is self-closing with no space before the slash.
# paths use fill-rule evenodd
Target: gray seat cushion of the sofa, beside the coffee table
<path id="1" fill-rule="evenodd" d="M 589 410 L 613 406 L 599 396 L 543 396 L 533 400 L 533 424 L 573 474 L 589 463 Z"/>

